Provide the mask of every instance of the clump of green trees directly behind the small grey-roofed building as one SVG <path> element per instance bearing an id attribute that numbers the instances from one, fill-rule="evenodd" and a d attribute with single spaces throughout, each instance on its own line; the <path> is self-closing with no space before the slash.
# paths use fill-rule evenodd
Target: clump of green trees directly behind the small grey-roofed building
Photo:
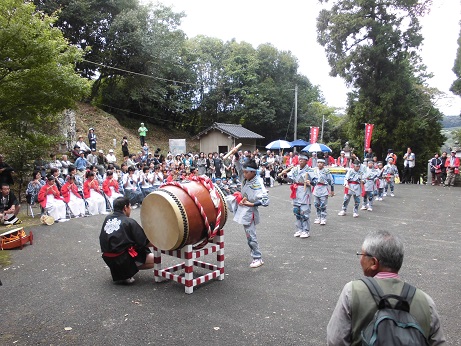
<path id="1" fill-rule="evenodd" d="M 299 87 L 298 127 L 305 129 L 307 105 L 320 92 L 305 76 L 290 52 L 269 44 L 254 49 L 246 42 L 222 42 L 198 36 L 187 42 L 188 56 L 199 89 L 190 114 L 196 124 L 239 123 L 272 138 L 292 138 L 294 87 Z M 199 128 L 197 128 L 198 130 Z"/>

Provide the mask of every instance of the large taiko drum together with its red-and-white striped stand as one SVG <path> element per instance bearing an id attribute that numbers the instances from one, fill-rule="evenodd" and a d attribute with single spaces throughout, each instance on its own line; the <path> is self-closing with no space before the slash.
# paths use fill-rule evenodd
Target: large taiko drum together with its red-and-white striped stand
<path id="1" fill-rule="evenodd" d="M 211 279 L 224 280 L 224 230 L 227 205 L 221 190 L 206 177 L 166 183 L 143 201 L 141 223 L 154 245 L 154 278 L 174 280 L 186 293 Z M 198 258 L 216 253 L 217 264 Z M 162 268 L 162 254 L 184 262 Z M 211 270 L 194 278 L 194 267 Z M 175 272 L 184 270 L 184 274 Z"/>

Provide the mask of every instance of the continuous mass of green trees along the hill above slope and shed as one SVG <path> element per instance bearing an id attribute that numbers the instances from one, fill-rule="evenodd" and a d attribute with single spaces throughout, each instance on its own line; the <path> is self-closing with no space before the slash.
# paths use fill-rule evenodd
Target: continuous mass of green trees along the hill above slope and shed
<path id="1" fill-rule="evenodd" d="M 298 137 L 319 125 L 308 108 L 322 101 L 320 90 L 297 72 L 291 52 L 270 44 L 254 48 L 204 36 L 188 39 L 179 29 L 184 14 L 161 4 L 35 3 L 48 13 L 60 9 L 57 26 L 87 52 L 78 67 L 95 79 L 92 101 L 111 113 L 191 134 L 219 121 L 240 123 L 267 141 L 291 139 L 297 84 Z"/>

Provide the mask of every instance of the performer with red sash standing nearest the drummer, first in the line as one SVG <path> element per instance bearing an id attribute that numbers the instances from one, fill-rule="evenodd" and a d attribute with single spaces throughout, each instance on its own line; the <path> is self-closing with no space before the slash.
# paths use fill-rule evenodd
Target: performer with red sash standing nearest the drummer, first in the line
<path id="1" fill-rule="evenodd" d="M 309 238 L 310 231 L 310 214 L 311 214 L 311 201 L 313 185 L 313 170 L 307 165 L 307 153 L 301 152 L 298 156 L 299 165 L 294 167 L 287 174 L 287 178 L 292 181 L 290 185 L 293 203 L 293 214 L 296 217 L 296 232 L 295 237 Z"/>

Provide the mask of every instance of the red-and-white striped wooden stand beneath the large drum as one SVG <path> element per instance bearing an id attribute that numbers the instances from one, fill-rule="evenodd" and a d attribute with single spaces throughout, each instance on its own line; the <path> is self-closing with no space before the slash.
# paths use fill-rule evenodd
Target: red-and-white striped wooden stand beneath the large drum
<path id="1" fill-rule="evenodd" d="M 184 262 L 162 269 L 162 253 L 184 259 Z M 197 260 L 197 258 L 213 253 L 216 253 L 217 264 Z M 194 279 L 194 266 L 211 270 L 211 272 Z M 174 272 L 182 269 L 184 269 L 184 276 L 174 274 Z M 195 286 L 211 279 L 224 280 L 224 230 L 219 230 L 213 242 L 201 250 L 193 250 L 192 245 L 186 245 L 181 250 L 174 251 L 160 250 L 154 246 L 154 280 L 161 282 L 163 278 L 184 285 L 187 294 L 193 293 Z"/>

